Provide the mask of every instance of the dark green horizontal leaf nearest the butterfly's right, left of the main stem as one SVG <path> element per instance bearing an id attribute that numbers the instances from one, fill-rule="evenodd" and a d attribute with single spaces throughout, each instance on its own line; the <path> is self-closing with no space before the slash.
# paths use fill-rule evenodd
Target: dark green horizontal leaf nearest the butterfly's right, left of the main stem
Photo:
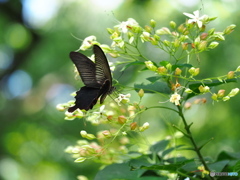
<path id="1" fill-rule="evenodd" d="M 134 84 L 135 90 L 138 92 L 139 89 L 143 89 L 144 93 L 164 93 L 164 94 L 170 94 L 171 90 L 168 87 L 167 83 L 164 82 L 155 82 L 154 84 Z"/>

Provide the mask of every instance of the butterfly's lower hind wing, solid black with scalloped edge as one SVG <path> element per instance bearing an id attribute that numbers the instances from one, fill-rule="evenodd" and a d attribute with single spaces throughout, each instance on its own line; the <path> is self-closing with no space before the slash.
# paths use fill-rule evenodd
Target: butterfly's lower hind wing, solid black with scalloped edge
<path id="1" fill-rule="evenodd" d="M 73 112 L 77 108 L 85 109 L 86 111 L 92 109 L 93 106 L 97 103 L 100 94 L 99 88 L 91 88 L 84 86 L 79 91 L 77 91 L 77 95 L 75 96 L 75 105 L 68 109 L 68 112 Z"/>

